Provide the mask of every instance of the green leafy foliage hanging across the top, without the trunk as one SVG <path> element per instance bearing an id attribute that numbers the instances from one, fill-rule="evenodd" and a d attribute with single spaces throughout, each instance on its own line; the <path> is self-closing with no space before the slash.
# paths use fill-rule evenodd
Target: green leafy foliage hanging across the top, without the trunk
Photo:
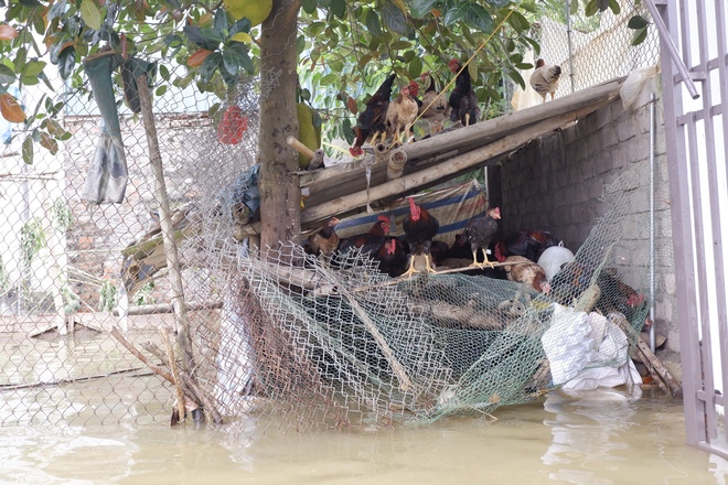
<path id="1" fill-rule="evenodd" d="M 333 127 L 330 136 L 349 138 L 354 106 L 342 103 L 342 93 L 361 110 L 392 71 L 398 84 L 432 72 L 445 86 L 452 79 L 447 64 L 472 55 L 478 98 L 497 105 L 494 87 L 504 74 L 524 85 L 517 69 L 525 66 L 523 52 L 537 46 L 531 22 L 538 9 L 538 0 L 302 0 L 296 42 L 301 84 L 311 93 L 307 101 Z M 195 83 L 225 99 L 226 85 L 257 71 L 261 28 L 233 21 L 222 2 L 56 0 L 45 7 L 28 0 L 9 7 L 7 20 L 19 35 L 0 43 L 0 91 L 10 84 L 49 84 L 45 52 L 76 89 L 87 89 L 81 60 L 101 47 L 176 63 L 181 68 L 160 66 L 158 95 L 169 84 Z M 58 104 L 42 99 L 29 116 L 26 163 L 38 155 L 34 144 L 54 152 L 69 136 L 51 122 Z"/>

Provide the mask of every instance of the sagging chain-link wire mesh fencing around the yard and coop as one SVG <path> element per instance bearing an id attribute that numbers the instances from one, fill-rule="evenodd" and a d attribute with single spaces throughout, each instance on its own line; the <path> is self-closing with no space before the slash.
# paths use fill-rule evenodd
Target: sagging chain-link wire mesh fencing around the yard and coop
<path id="1" fill-rule="evenodd" d="M 627 74 L 655 55 L 635 61 L 624 54 L 632 50 L 613 43 L 582 53 L 606 31 L 629 39 L 622 17 L 608 18 L 590 40 L 572 41 L 579 47 L 572 63 L 568 43 L 544 34 L 544 56 L 574 65 L 565 79 L 574 73 L 576 89 Z M 545 19 L 542 29 L 565 28 Z M 597 63 L 602 77 L 580 79 L 577 66 L 600 57 L 614 62 Z M 484 277 L 393 284 L 363 257 L 321 262 L 302 248 L 291 249 L 299 265 L 264 265 L 248 258 L 240 234 L 258 209 L 255 80 L 221 100 L 165 79 L 158 76 L 152 86 L 153 122 L 183 295 L 170 282 L 150 163 L 154 143 L 140 115 L 118 104 L 128 170 L 118 204 L 82 198 L 108 132 L 88 97 L 66 89 L 64 123 L 73 137 L 56 155 L 36 157 L 30 165 L 18 137 L 4 147 L 0 422 L 165 422 L 178 395 L 164 377 L 192 377 L 199 403 L 240 435 L 271 425 L 365 427 L 489 412 L 560 384 L 552 380 L 540 343 L 554 319 L 550 303 L 569 304 L 602 278 L 604 248 L 621 237 L 614 230 L 618 197 L 593 245 L 585 244 L 578 256 L 578 274 L 550 297 Z M 560 89 L 570 91 L 569 83 Z M 22 96 L 31 104 L 34 93 Z M 121 96 L 117 87 L 116 99 Z M 186 322 L 175 320 L 179 297 Z M 638 300 L 621 308 L 634 327 L 646 308 Z M 604 313 L 620 310 L 602 306 Z M 161 365 L 185 351 L 170 352 L 170 332 L 191 342 L 192 358 L 181 359 L 178 373 Z"/>

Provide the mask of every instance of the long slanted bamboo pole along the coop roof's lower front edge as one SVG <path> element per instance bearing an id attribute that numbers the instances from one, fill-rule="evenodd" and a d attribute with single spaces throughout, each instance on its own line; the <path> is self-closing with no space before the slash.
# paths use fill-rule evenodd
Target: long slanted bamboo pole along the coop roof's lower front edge
<path id="1" fill-rule="evenodd" d="M 590 112 L 593 110 L 593 107 L 590 106 L 584 109 Z M 372 187 L 370 191 L 360 191 L 347 196 L 339 197 L 328 204 L 310 207 L 301 212 L 301 224 L 315 223 L 326 219 L 333 215 L 362 207 L 367 203 L 367 192 L 371 198 L 376 201 L 402 194 L 407 191 L 416 190 L 421 185 L 442 179 L 446 175 L 458 173 L 462 170 L 482 163 L 485 160 L 497 157 L 501 153 L 514 150 L 517 147 L 521 147 L 522 144 L 531 141 L 534 137 L 556 130 L 569 122 L 576 121 L 582 116 L 584 115 L 581 111 L 574 111 L 548 118 L 544 121 L 535 123 L 528 130 L 515 132 L 511 136 L 501 138 L 493 143 L 472 150 L 462 155 L 454 157 L 453 159 L 450 159 L 448 163 L 431 166 L 429 169 L 405 175 L 400 179 L 385 182 L 378 186 Z M 407 157 L 409 157 L 409 154 Z"/>

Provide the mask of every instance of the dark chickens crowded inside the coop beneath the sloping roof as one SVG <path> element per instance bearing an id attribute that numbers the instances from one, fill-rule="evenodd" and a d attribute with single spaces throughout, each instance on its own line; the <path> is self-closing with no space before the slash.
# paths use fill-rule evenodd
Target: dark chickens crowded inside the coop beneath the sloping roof
<path id="1" fill-rule="evenodd" d="M 439 230 L 439 222 L 409 197 L 409 214 L 403 222 L 405 234 L 402 237 L 389 235 L 390 220 L 386 215 L 379 215 L 368 231 L 340 239 L 336 235 L 340 220 L 332 217 L 309 237 L 304 249 L 310 255 L 319 256 L 325 263 L 333 260 L 339 263 L 355 261 L 366 256 L 377 261 L 379 270 L 393 278 L 411 278 L 414 273 L 420 272 L 415 263 L 417 256 L 425 258 L 425 272 L 435 272 L 435 267 L 442 262 L 448 265 L 448 261 L 462 261 L 472 257 L 467 274 L 483 274 L 522 283 L 563 304 L 592 284 L 591 274 L 595 269 L 590 270 L 584 262 L 576 260 L 564 265 L 549 281 L 536 261 L 543 259 L 542 255 L 549 248 L 556 249 L 560 241 L 550 233 L 538 229 L 520 230 L 495 238 L 500 218 L 499 207 L 473 217 L 464 231 L 456 236 L 452 246 L 448 247 L 433 240 Z M 489 260 L 488 251 L 496 261 Z M 339 252 L 336 258 L 335 252 Z M 494 268 L 495 262 L 503 263 L 502 268 Z M 609 270 L 599 270 L 596 282 L 601 294 L 595 308 L 603 314 L 619 311 L 631 322 L 642 311 L 644 295 L 617 279 Z"/>

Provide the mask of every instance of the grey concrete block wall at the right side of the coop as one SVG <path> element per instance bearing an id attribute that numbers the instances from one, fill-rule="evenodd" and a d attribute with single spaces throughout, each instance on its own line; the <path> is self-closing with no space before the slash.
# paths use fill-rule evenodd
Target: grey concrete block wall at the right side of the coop
<path id="1" fill-rule="evenodd" d="M 577 123 L 524 147 L 505 160 L 489 183 L 501 203 L 503 230 L 544 229 L 575 254 L 606 214 L 604 188 L 619 179 L 628 213 L 620 219 L 622 239 L 610 266 L 621 280 L 647 294 L 650 257 L 650 86 L 624 108 L 617 99 Z M 667 336 L 668 359 L 677 360 L 679 337 L 672 257 L 670 190 L 662 101 L 656 100 L 654 315 L 657 333 Z M 493 186 L 496 185 L 496 186 Z M 659 354 L 660 355 L 660 354 Z"/>

